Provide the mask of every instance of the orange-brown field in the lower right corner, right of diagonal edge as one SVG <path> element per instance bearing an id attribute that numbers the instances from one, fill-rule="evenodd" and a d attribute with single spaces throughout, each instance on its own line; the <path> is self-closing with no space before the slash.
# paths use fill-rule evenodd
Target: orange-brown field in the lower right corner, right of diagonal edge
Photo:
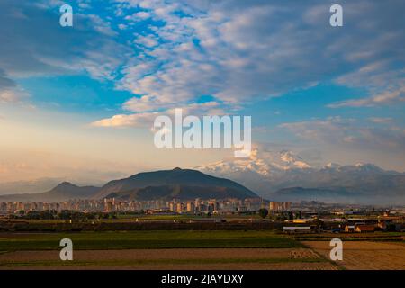
<path id="1" fill-rule="evenodd" d="M 302 243 L 329 258 L 329 241 Z M 343 242 L 343 261 L 337 261 L 337 264 L 357 270 L 405 270 L 405 245 L 401 242 Z"/>

